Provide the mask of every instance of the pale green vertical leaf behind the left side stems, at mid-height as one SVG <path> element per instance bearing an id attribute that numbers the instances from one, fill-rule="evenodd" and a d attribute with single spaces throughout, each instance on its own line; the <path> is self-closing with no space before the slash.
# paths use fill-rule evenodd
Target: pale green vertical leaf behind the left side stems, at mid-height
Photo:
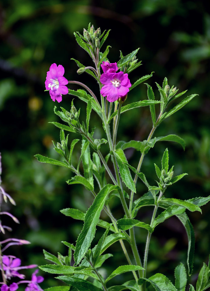
<path id="1" fill-rule="evenodd" d="M 82 141 L 82 144 L 85 144 L 86 141 Z M 83 165 L 83 169 L 84 169 L 84 178 L 90 183 L 90 185 L 93 187 L 94 189 L 94 185 L 93 185 L 93 172 L 92 172 L 92 161 L 90 158 L 90 146 L 89 146 L 89 142 L 88 145 L 84 151 L 84 154 L 82 155 L 82 165 Z"/>

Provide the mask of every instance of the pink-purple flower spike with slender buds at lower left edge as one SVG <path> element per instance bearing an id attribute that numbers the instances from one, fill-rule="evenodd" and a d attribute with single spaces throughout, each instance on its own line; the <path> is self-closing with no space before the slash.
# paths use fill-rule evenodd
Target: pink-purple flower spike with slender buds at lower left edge
<path id="1" fill-rule="evenodd" d="M 1 153 L 0 153 L 0 175 L 2 172 L 1 168 Z M 1 185 L 1 176 L 0 176 L 0 185 Z M 10 197 L 9 194 L 7 194 L 3 187 L 0 186 L 0 207 L 1 207 L 1 202 L 2 197 L 4 201 L 7 203 L 7 199 L 15 205 L 15 201 Z M 3 211 L 0 212 L 0 215 L 6 214 L 9 217 L 11 217 L 16 223 L 19 223 L 18 219 L 12 215 L 9 212 Z M 12 230 L 9 226 L 5 226 L 1 223 L 0 219 L 0 233 L 5 234 L 5 230 Z M 2 282 L 1 284 L 1 291 L 15 291 L 19 288 L 19 284 L 21 283 L 27 283 L 27 287 L 25 288 L 25 291 L 41 291 L 41 287 L 38 285 L 38 283 L 41 283 L 44 278 L 42 276 L 36 276 L 38 270 L 36 270 L 32 274 L 32 279 L 31 280 L 23 280 L 19 282 L 13 282 L 13 283 L 8 283 L 13 278 L 19 278 L 19 279 L 25 279 L 25 275 L 20 274 L 19 270 L 22 269 L 31 269 L 31 268 L 36 268 L 37 265 L 28 265 L 28 266 L 21 266 L 21 260 L 19 258 L 16 258 L 13 255 L 3 255 L 3 252 L 8 249 L 8 247 L 13 246 L 13 245 L 23 245 L 23 244 L 30 244 L 29 241 L 25 239 L 16 239 L 16 238 L 7 238 L 2 241 L 0 241 L 0 245 L 3 245 L 3 248 L 0 248 L 0 270 L 1 270 L 1 275 L 2 275 Z"/>

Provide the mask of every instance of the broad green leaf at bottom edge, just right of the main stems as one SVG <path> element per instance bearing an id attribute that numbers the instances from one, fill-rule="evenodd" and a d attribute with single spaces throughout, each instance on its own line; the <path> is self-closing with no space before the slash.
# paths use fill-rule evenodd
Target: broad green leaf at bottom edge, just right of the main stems
<path id="1" fill-rule="evenodd" d="M 149 277 L 149 279 L 140 278 L 138 280 L 138 284 L 142 285 L 144 281 L 149 282 L 156 291 L 177 291 L 171 281 L 166 276 L 160 273 Z"/>

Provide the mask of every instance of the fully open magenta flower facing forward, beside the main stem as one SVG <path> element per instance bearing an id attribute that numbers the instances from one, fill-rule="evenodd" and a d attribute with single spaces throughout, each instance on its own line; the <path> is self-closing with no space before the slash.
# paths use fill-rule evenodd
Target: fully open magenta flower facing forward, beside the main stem
<path id="1" fill-rule="evenodd" d="M 110 73 L 102 74 L 100 81 L 104 86 L 101 88 L 102 96 L 107 96 L 109 102 L 116 101 L 119 97 L 124 97 L 129 92 L 131 82 L 128 79 L 128 74 Z"/>

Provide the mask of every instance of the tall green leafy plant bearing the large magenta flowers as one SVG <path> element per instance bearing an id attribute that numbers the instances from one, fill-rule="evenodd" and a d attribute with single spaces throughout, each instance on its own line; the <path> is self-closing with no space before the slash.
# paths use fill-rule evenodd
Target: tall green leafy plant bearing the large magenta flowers
<path id="1" fill-rule="evenodd" d="M 101 52 L 102 45 L 108 34 L 109 31 L 107 33 L 104 31 L 101 34 L 100 28 L 95 30 L 90 25 L 88 30 L 84 29 L 83 36 L 79 32 L 75 33 L 76 41 L 89 54 L 95 64 L 95 67 L 86 67 L 73 59 L 79 66 L 77 73 L 86 72 L 93 76 L 99 85 L 99 93 L 93 93 L 88 86 L 81 82 L 67 81 L 63 77 L 64 68 L 62 65 L 57 66 L 54 63 L 50 66 L 49 72 L 47 72 L 45 85 L 52 100 L 61 102 L 62 94 L 68 93 L 74 95 L 87 103 L 87 114 L 86 120 L 82 120 L 82 117 L 79 116 L 80 110 L 75 108 L 73 100 L 68 111 L 63 107 L 59 111 L 55 106 L 55 114 L 63 121 L 63 123 L 52 122 L 61 129 L 60 142 L 54 143 L 54 146 L 55 151 L 61 155 L 62 162 L 42 155 L 36 155 L 36 157 L 40 162 L 63 166 L 72 171 L 75 175 L 67 183 L 69 185 L 82 184 L 93 195 L 93 204 L 86 213 L 71 208 L 61 210 L 66 216 L 83 220 L 84 226 L 79 234 L 76 245 L 72 244 L 72 242 L 63 242 L 69 249 L 68 256 L 64 257 L 59 254 L 58 257 L 55 257 L 44 251 L 45 258 L 55 264 L 44 265 L 40 268 L 52 274 L 62 274 L 62 276 L 57 278 L 71 286 L 74 290 L 79 291 L 120 291 L 123 289 L 143 291 L 152 288 L 148 286 L 153 286 L 158 291 L 184 291 L 189 290 L 189 288 L 193 291 L 195 289 L 192 285 L 187 286 L 187 273 L 182 262 L 175 269 L 174 284 L 164 274 L 157 273 L 148 278 L 147 260 L 150 239 L 155 227 L 159 223 L 173 215 L 178 217 L 186 229 L 189 240 L 186 255 L 187 264 L 185 263 L 185 265 L 187 265 L 188 274 L 191 275 L 195 237 L 186 211 L 201 212 L 200 206 L 206 204 L 210 197 L 198 197 L 189 200 L 167 197 L 167 188 L 186 175 L 186 173 L 180 173 L 180 175 L 174 177 L 173 166 L 169 167 L 169 152 L 167 148 L 163 153 L 162 161 L 158 165 L 155 164 L 154 167 L 154 171 L 157 174 L 157 181 L 154 181 L 155 186 L 148 183 L 144 173 L 141 172 L 141 166 L 144 156 L 154 147 L 157 141 L 173 141 L 179 143 L 183 148 L 185 147 L 184 140 L 175 134 L 154 137 L 154 132 L 163 120 L 181 109 L 196 94 L 185 97 L 175 107 L 168 109 L 171 101 L 181 97 L 186 91 L 178 93 L 178 89 L 174 86 L 170 87 L 168 80 L 165 78 L 162 87 L 157 84 L 160 92 L 159 100 L 157 100 L 158 97 L 155 98 L 152 87 L 145 83 L 148 100 L 132 103 L 129 92 L 140 83 L 152 77 L 153 73 L 141 77 L 131 85 L 129 73 L 141 65 L 141 62 L 138 62 L 136 58 L 138 49 L 127 56 L 123 56 L 120 53 L 120 60 L 117 63 L 110 63 L 107 58 L 110 46 L 107 46 L 105 51 Z M 71 88 L 67 89 L 67 83 L 69 85 L 77 84 L 85 90 L 78 89 L 74 91 Z M 148 106 L 151 112 L 152 129 L 148 139 L 144 141 L 118 141 L 117 128 L 120 124 L 120 115 L 125 111 L 130 110 L 129 112 L 132 112 L 132 109 L 142 106 Z M 160 108 L 158 115 L 156 115 L 156 106 Z M 103 125 L 104 136 L 101 139 L 95 139 L 95 128 L 89 129 L 92 110 L 98 114 L 98 120 Z M 77 138 L 72 140 L 70 147 L 68 146 L 68 135 L 65 136 L 64 131 L 70 132 L 72 137 L 77 134 Z M 75 165 L 72 162 L 72 153 L 75 144 L 78 142 L 82 143 L 82 148 L 78 164 Z M 106 155 L 102 155 L 101 147 L 104 147 L 103 152 L 106 152 Z M 126 148 L 134 148 L 140 151 L 140 156 L 138 153 L 136 154 L 136 159 L 139 159 L 137 168 L 128 164 L 124 154 Z M 83 165 L 82 172 L 80 171 L 81 162 Z M 140 193 L 136 193 L 138 178 L 139 182 L 143 182 L 148 188 L 148 191 L 143 196 Z M 119 220 L 115 219 L 109 207 L 109 202 L 113 195 L 120 198 L 124 210 L 124 216 Z M 129 203 L 127 203 L 128 200 L 126 199 L 129 199 Z M 150 224 L 135 219 L 137 213 L 141 211 L 141 207 L 147 205 L 154 206 Z M 157 216 L 158 208 L 162 212 Z M 102 210 L 106 212 L 110 222 L 99 219 Z M 95 236 L 96 226 L 104 228 L 104 234 L 94 246 L 91 243 Z M 140 257 L 135 242 L 134 226 L 136 226 L 136 232 L 140 231 L 139 228 L 144 228 L 148 232 L 143 258 Z M 115 270 L 113 269 L 113 272 L 104 278 L 100 274 L 99 268 L 105 260 L 113 256 L 110 253 L 104 252 L 117 241 L 120 242 L 122 252 L 128 263 L 121 266 L 119 262 L 119 267 Z M 126 245 L 124 244 L 125 241 L 127 242 Z M 129 250 L 127 249 L 128 245 Z M 130 249 L 132 250 L 132 256 Z M 73 266 L 70 265 L 72 251 L 75 262 Z M 121 285 L 112 286 L 112 278 L 124 272 L 131 272 L 133 278 L 127 282 L 122 281 Z M 196 291 L 206 290 L 210 286 L 209 275 L 209 266 L 204 264 L 198 276 Z M 56 288 L 55 290 L 58 290 Z M 68 286 L 59 287 L 61 291 L 67 289 Z M 53 291 L 54 288 L 50 290 Z"/>

